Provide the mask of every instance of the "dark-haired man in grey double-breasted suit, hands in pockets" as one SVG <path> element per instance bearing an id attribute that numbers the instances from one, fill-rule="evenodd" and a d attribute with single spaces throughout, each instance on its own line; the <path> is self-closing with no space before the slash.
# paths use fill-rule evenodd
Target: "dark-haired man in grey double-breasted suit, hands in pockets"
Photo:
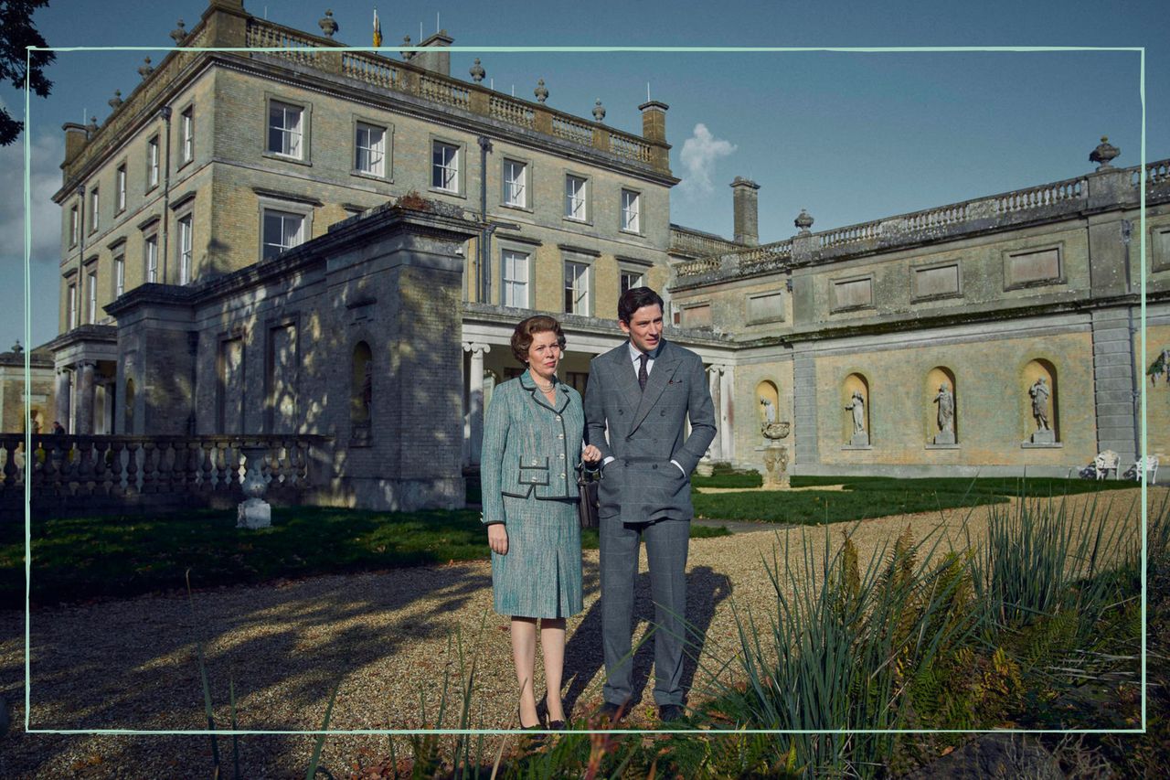
<path id="1" fill-rule="evenodd" d="M 634 580 L 645 539 L 654 600 L 654 702 L 667 723 L 683 714 L 690 472 L 715 438 L 715 410 L 702 360 L 662 338 L 658 293 L 627 290 L 618 302 L 618 324 L 629 341 L 593 358 L 585 391 L 586 435 L 603 458 L 601 713 L 618 719 L 632 704 Z"/>

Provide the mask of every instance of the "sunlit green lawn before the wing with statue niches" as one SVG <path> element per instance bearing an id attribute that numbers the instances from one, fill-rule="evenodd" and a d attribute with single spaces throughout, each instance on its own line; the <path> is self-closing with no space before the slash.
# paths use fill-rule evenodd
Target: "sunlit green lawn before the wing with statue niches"
<path id="1" fill-rule="evenodd" d="M 1123 480 L 1017 478 L 793 477 L 792 487 L 844 485 L 842 491 L 756 491 L 693 494 L 695 514 L 718 520 L 798 525 L 841 522 L 1007 501 L 1010 495 L 1065 495 L 1134 487 Z M 1026 487 L 1025 487 L 1026 486 Z"/>

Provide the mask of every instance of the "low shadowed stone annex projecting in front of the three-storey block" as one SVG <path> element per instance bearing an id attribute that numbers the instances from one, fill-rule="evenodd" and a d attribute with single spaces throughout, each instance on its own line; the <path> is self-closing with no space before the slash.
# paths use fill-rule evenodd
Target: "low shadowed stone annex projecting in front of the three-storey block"
<path id="1" fill-rule="evenodd" d="M 474 232 L 459 215 L 383 207 L 232 274 L 137 287 L 108 307 L 131 399 L 116 426 L 322 436 L 315 502 L 461 506 L 462 349 L 449 334 L 457 249 Z"/>

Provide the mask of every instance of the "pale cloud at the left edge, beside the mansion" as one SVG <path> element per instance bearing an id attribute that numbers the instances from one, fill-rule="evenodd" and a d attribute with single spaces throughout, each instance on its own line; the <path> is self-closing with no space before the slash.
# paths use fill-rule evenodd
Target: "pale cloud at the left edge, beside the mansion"
<path id="1" fill-rule="evenodd" d="M 61 207 L 53 193 L 61 189 L 64 141 L 57 134 L 40 134 L 30 150 L 33 262 L 55 262 L 61 256 Z M 0 283 L 16 283 L 25 256 L 25 137 L 0 146 Z M 16 275 L 13 275 L 13 271 Z"/>

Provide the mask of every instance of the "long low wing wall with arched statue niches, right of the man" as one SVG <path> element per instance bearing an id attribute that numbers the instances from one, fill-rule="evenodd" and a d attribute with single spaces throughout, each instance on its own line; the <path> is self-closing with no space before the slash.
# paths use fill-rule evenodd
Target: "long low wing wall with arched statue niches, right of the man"
<path id="1" fill-rule="evenodd" d="M 1148 363 L 1170 348 L 1158 342 L 1170 340 L 1166 167 L 1147 165 Z M 1075 475 L 1106 449 L 1133 463 L 1149 369 L 1137 357 L 1138 173 L 1102 166 L 823 233 L 798 219 L 792 239 L 675 264 L 674 315 L 734 344 L 735 409 L 758 408 L 760 383 L 777 389 L 792 473 Z M 1041 376 L 1052 442 L 1034 436 L 1028 389 Z M 944 382 L 954 443 L 935 440 Z M 1157 388 L 1147 381 L 1145 449 L 1164 457 Z M 854 390 L 866 446 L 851 443 Z M 756 417 L 736 425 L 731 459 L 762 467 Z"/>

